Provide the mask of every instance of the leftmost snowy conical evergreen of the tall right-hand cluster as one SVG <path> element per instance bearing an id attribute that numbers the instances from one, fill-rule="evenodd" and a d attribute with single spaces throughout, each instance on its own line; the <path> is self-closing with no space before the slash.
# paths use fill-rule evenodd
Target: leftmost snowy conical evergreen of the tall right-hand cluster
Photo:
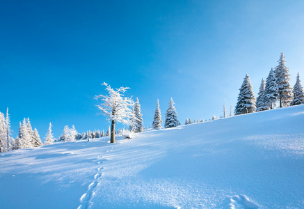
<path id="1" fill-rule="evenodd" d="M 243 80 L 243 84 L 239 89 L 239 97 L 237 98 L 237 106 L 234 114 L 247 114 L 255 111 L 255 93 L 253 93 L 253 85 L 250 82 L 249 75 Z"/>

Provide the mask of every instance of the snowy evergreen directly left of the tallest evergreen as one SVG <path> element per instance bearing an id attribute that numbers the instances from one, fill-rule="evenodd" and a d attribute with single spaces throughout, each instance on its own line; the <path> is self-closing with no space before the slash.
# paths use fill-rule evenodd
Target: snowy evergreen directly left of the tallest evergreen
<path id="1" fill-rule="evenodd" d="M 262 110 L 273 109 L 275 107 L 275 102 L 278 100 L 278 86 L 275 79 L 275 74 L 273 68 L 271 68 L 269 75 L 266 79 L 265 91 L 263 96 Z"/>

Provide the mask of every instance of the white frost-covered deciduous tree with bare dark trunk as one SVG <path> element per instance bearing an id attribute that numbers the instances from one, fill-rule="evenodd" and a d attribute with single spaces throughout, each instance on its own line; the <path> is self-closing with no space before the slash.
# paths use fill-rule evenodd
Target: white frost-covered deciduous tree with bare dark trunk
<path id="1" fill-rule="evenodd" d="M 133 101 L 123 95 L 129 89 L 128 87 L 120 87 L 114 90 L 106 83 L 102 85 L 106 86 L 109 95 L 96 95 L 95 99 L 101 98 L 102 100 L 102 104 L 97 105 L 97 107 L 102 111 L 102 114 L 107 116 L 108 121 L 111 121 L 111 143 L 115 143 L 115 122 L 129 125 L 132 114 L 130 107 L 133 107 Z"/>

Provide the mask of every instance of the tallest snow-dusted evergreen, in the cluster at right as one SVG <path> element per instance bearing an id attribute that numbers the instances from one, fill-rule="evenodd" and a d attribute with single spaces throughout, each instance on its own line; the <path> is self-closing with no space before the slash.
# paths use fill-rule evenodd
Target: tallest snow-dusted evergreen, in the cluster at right
<path id="1" fill-rule="evenodd" d="M 278 66 L 275 68 L 275 78 L 278 84 L 278 99 L 280 107 L 287 107 L 293 100 L 292 88 L 289 84 L 290 75 L 289 68 L 286 67 L 285 55 L 282 52 L 278 61 Z"/>

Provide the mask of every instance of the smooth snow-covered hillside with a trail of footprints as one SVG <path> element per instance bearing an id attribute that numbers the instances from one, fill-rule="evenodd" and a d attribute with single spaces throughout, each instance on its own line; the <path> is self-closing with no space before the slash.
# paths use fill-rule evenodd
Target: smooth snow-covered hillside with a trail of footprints
<path id="1" fill-rule="evenodd" d="M 0 155 L 0 208 L 304 208 L 304 105 Z"/>

